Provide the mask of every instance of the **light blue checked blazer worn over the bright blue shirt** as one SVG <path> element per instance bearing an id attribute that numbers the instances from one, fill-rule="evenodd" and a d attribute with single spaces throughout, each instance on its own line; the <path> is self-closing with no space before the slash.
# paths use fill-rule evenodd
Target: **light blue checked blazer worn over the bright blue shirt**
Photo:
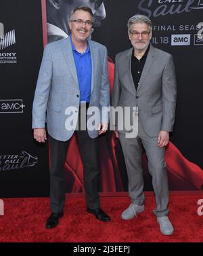
<path id="1" fill-rule="evenodd" d="M 108 79 L 108 54 L 106 47 L 89 40 L 91 50 L 92 78 L 90 107 L 98 107 L 99 122 L 108 123 L 102 107 L 110 105 L 110 84 Z M 74 129 L 66 130 L 67 107 L 76 107 L 73 115 L 78 119 L 80 89 L 70 37 L 45 46 L 39 71 L 37 88 L 32 107 L 32 128 L 44 128 L 47 120 L 48 133 L 59 141 L 67 141 Z M 87 119 L 88 120 L 88 119 Z M 89 136 L 98 136 L 97 130 L 88 130 Z"/>

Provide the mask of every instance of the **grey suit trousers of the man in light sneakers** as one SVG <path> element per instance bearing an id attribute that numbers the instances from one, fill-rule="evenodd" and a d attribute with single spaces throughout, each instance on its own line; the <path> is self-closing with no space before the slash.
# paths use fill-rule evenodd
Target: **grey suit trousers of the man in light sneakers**
<path id="1" fill-rule="evenodd" d="M 168 177 L 165 163 L 165 147 L 158 147 L 158 137 L 150 137 L 138 123 L 138 135 L 136 138 L 126 138 L 119 133 L 119 140 L 125 157 L 127 174 L 129 177 L 129 196 L 133 203 L 143 205 L 143 170 L 141 166 L 141 154 L 145 149 L 148 158 L 148 169 L 152 175 L 152 185 L 156 196 L 157 217 L 168 215 Z"/>

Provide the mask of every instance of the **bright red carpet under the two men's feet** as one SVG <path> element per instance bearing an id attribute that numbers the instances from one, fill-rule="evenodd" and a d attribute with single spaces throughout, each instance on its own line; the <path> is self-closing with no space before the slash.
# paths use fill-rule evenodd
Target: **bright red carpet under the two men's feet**
<path id="1" fill-rule="evenodd" d="M 0 216 L 0 242 L 203 242 L 203 215 L 197 202 L 202 195 L 170 197 L 173 236 L 158 230 L 154 196 L 146 193 L 145 211 L 130 221 L 120 219 L 129 205 L 127 196 L 101 197 L 101 206 L 111 217 L 109 223 L 97 221 L 85 211 L 85 198 L 66 197 L 64 217 L 53 230 L 45 229 L 49 198 L 4 199 L 5 215 Z"/>

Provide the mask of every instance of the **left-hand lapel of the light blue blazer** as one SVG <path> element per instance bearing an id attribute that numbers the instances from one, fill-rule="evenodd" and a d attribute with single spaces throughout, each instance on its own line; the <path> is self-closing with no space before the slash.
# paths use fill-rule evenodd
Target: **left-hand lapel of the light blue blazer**
<path id="1" fill-rule="evenodd" d="M 70 70 L 70 73 L 78 86 L 78 76 L 77 76 L 76 67 L 74 63 L 74 56 L 72 53 L 72 45 L 71 45 L 70 37 L 64 40 L 63 54 L 66 60 L 66 64 L 68 65 L 68 69 Z"/>

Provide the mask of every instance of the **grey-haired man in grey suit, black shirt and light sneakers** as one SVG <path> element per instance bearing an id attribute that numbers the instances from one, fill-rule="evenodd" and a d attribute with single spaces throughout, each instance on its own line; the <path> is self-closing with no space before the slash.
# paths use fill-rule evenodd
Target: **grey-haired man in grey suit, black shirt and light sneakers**
<path id="1" fill-rule="evenodd" d="M 125 124 L 124 128 L 119 128 L 123 116 L 118 112 L 115 122 L 115 134 L 125 156 L 131 198 L 122 219 L 132 219 L 144 210 L 141 154 L 145 149 L 156 196 L 154 214 L 160 232 L 171 235 L 173 225 L 167 217 L 168 177 L 164 153 L 175 121 L 175 67 L 171 54 L 150 44 L 152 22 L 148 17 L 135 15 L 130 18 L 128 33 L 133 48 L 116 55 L 112 96 L 112 106 L 129 107 L 131 117 L 131 126 Z M 138 130 L 137 136 L 129 136 L 132 129 L 135 133 Z"/>

